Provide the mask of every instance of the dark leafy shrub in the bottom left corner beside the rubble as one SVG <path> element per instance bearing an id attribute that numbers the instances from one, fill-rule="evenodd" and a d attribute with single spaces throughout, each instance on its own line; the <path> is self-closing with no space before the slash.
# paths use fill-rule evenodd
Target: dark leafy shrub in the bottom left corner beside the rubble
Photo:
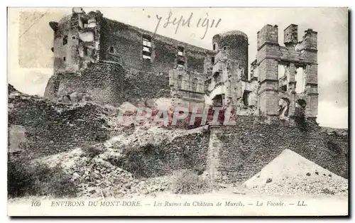
<path id="1" fill-rule="evenodd" d="M 48 195 L 54 197 L 75 197 L 77 187 L 70 175 L 59 166 L 50 168 L 42 163 L 8 162 L 8 195 Z"/>

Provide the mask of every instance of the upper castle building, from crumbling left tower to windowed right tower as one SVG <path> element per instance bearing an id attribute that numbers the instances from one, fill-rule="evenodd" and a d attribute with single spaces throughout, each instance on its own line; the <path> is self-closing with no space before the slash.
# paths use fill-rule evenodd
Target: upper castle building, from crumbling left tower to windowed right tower
<path id="1" fill-rule="evenodd" d="M 278 26 L 264 26 L 258 31 L 258 53 L 249 69 L 249 40 L 241 31 L 215 35 L 208 50 L 80 8 L 50 26 L 55 55 L 55 77 L 45 91 L 50 99 L 80 85 L 78 90 L 91 91 L 94 101 L 114 105 L 170 97 L 175 105 L 231 107 L 239 115 L 317 116 L 317 32 L 311 29 L 299 42 L 297 25 L 291 24 L 285 28 L 285 46 L 281 46 Z M 125 82 L 132 74 L 135 80 L 143 80 L 142 85 Z M 300 92 L 296 85 L 302 85 Z"/>

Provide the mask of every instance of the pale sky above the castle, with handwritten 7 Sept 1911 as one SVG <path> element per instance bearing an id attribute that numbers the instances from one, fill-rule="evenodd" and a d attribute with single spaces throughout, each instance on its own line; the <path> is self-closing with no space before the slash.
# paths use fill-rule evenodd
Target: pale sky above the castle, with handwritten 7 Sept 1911
<path id="1" fill-rule="evenodd" d="M 212 37 L 226 31 L 243 31 L 249 36 L 249 64 L 256 58 L 256 33 L 266 24 L 278 25 L 283 45 L 283 29 L 298 25 L 298 39 L 312 28 L 318 32 L 317 121 L 321 126 L 348 127 L 348 11 L 346 8 L 83 8 L 99 10 L 104 17 L 121 21 L 212 50 Z M 53 73 L 53 30 L 50 21 L 59 21 L 71 8 L 9 9 L 8 82 L 27 94 L 43 95 Z M 170 13 L 171 12 L 171 13 Z M 181 16 L 190 26 L 172 23 Z M 201 22 L 198 25 L 198 21 Z M 217 21 L 221 20 L 216 27 Z M 160 21 L 160 23 L 159 23 Z M 202 22 L 214 26 L 206 30 Z M 250 70 L 250 69 L 249 69 Z"/>

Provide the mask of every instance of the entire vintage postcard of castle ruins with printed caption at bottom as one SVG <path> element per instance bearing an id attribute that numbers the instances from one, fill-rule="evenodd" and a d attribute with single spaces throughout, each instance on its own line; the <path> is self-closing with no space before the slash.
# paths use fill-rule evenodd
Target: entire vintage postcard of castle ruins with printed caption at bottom
<path id="1" fill-rule="evenodd" d="M 9 216 L 347 216 L 347 8 L 8 8 Z"/>

